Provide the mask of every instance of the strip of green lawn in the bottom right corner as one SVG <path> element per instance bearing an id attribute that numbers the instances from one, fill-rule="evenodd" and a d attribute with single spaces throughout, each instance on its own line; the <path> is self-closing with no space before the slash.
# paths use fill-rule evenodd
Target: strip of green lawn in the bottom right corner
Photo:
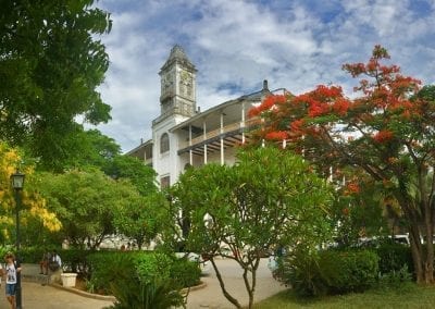
<path id="1" fill-rule="evenodd" d="M 372 289 L 361 294 L 298 298 L 291 291 L 276 294 L 256 304 L 254 309 L 293 308 L 435 308 L 435 286 L 405 284 L 395 289 Z"/>

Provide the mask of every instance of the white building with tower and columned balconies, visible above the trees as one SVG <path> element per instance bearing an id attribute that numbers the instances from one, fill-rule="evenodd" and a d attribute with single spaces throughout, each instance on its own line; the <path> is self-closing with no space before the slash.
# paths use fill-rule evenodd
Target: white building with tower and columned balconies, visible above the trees
<path id="1" fill-rule="evenodd" d="M 248 119 L 249 109 L 272 92 L 268 82 L 257 92 L 241 96 L 200 112 L 196 101 L 195 65 L 179 46 L 174 46 L 160 70 L 160 115 L 152 121 L 152 138 L 126 154 L 137 157 L 158 173 L 162 187 L 173 185 L 187 165 L 209 162 L 233 164 L 238 145 L 260 124 Z"/>

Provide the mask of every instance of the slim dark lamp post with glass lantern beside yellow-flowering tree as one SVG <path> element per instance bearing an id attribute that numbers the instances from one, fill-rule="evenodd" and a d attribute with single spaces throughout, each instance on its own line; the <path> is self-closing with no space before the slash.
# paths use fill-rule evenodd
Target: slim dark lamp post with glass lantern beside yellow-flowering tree
<path id="1" fill-rule="evenodd" d="M 21 267 L 20 260 L 20 209 L 21 209 L 21 190 L 24 186 L 24 174 L 16 171 L 11 175 L 12 188 L 15 193 L 15 219 L 16 219 L 16 267 Z M 22 309 L 21 293 L 21 272 L 16 272 L 16 309 Z"/>

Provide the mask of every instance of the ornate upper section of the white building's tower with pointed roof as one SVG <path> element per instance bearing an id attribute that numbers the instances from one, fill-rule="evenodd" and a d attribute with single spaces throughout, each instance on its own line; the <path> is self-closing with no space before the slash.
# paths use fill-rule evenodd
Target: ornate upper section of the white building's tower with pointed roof
<path id="1" fill-rule="evenodd" d="M 161 78 L 161 120 L 182 115 L 190 118 L 196 112 L 196 72 L 183 48 L 175 45 L 159 72 Z"/>

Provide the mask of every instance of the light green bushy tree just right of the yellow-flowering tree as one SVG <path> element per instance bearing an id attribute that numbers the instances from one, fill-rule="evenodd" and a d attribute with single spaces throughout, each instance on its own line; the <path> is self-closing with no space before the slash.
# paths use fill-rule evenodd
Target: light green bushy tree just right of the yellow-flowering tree
<path id="1" fill-rule="evenodd" d="M 97 247 L 115 232 L 113 217 L 138 196 L 128 182 L 116 182 L 98 170 L 41 173 L 38 188 L 58 214 L 62 239 L 78 247 Z"/>

